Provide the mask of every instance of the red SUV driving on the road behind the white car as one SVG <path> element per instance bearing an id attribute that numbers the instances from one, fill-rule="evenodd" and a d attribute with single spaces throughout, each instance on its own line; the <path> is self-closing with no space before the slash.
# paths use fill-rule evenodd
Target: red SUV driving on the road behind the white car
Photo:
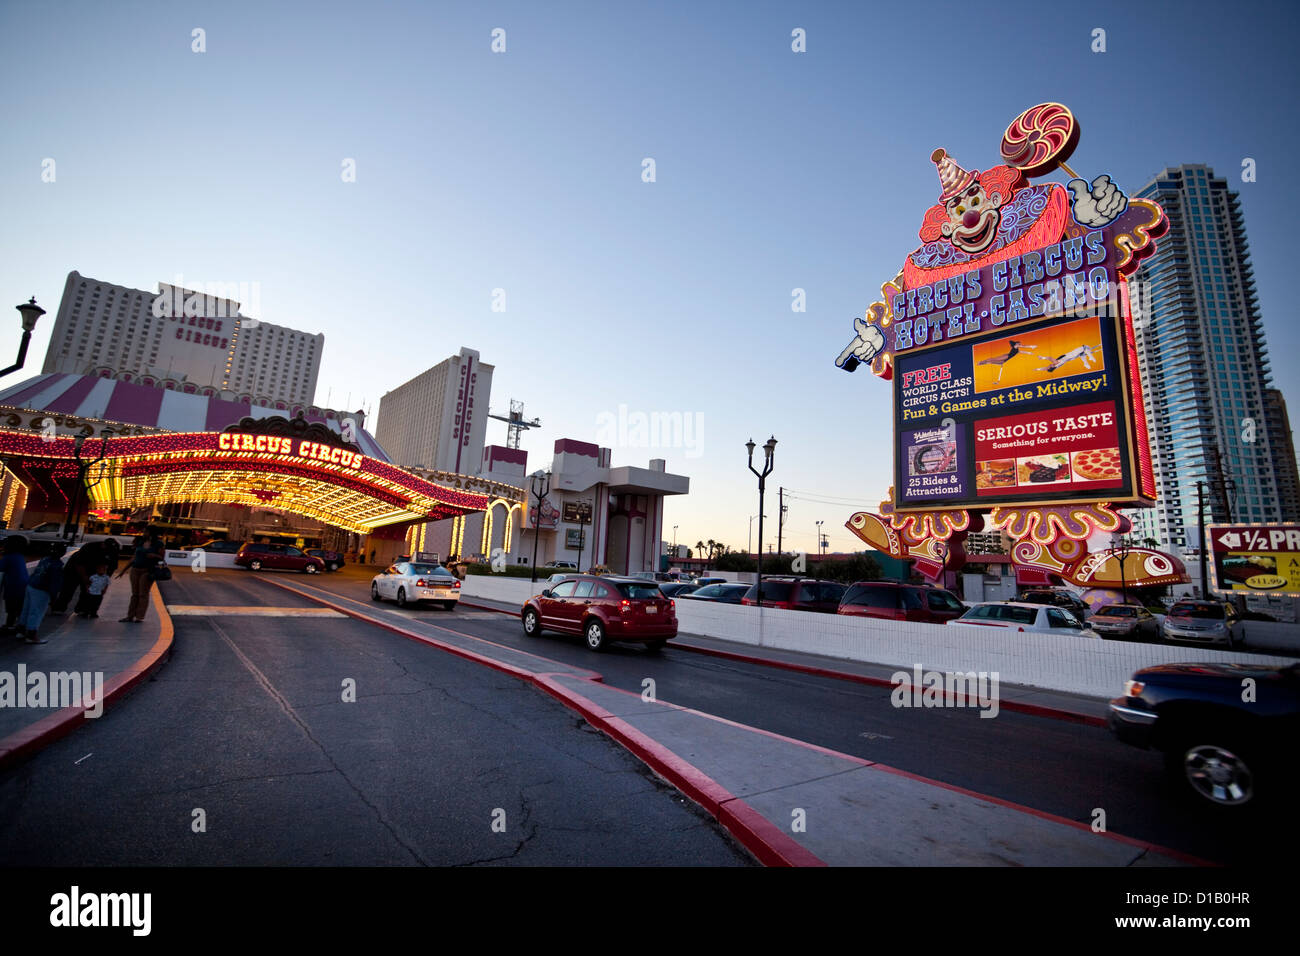
<path id="1" fill-rule="evenodd" d="M 677 636 L 676 607 L 654 581 L 575 575 L 528 598 L 520 618 L 529 637 L 559 631 L 582 635 L 592 650 L 604 650 L 610 641 L 659 650 Z"/>

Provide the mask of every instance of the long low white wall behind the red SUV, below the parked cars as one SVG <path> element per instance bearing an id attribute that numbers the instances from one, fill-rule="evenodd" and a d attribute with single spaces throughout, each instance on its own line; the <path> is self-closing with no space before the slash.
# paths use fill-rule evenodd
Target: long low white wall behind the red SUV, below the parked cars
<path id="1" fill-rule="evenodd" d="M 523 605 L 536 585 L 517 578 L 471 575 L 463 597 L 485 597 Z M 737 645 L 797 650 L 845 661 L 863 661 L 910 670 L 922 665 L 940 671 L 996 671 L 1010 684 L 1043 687 L 1097 697 L 1114 697 L 1135 670 L 1179 661 L 1292 663 L 1288 658 L 1209 648 L 1102 641 L 1091 637 L 1026 635 L 993 628 L 914 624 L 871 618 L 745 607 L 708 601 L 677 601 L 681 633 L 734 641 Z M 1247 644 L 1262 640 L 1265 628 L 1284 624 L 1247 622 Z M 1273 633 L 1271 631 L 1269 632 Z M 1270 637 L 1275 639 L 1275 637 Z M 1300 645 L 1300 628 L 1288 639 Z"/>

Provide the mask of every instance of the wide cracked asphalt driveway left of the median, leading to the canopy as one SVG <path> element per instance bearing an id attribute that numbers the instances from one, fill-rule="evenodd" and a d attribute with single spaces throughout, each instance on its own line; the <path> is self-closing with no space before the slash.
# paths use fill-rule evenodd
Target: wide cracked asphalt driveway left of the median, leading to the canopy
<path id="1" fill-rule="evenodd" d="M 316 607 L 247 572 L 161 587 L 169 605 Z M 0 775 L 0 862 L 753 864 L 514 678 L 344 617 L 174 623 L 155 680 Z"/>

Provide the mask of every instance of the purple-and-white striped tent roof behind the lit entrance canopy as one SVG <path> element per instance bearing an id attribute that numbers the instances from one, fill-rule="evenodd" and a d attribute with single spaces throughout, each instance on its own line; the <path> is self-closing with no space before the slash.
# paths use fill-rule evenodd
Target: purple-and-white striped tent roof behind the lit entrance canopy
<path id="1" fill-rule="evenodd" d="M 160 428 L 168 432 L 221 432 L 242 419 L 280 415 L 302 416 L 342 433 L 351 414 L 292 402 L 273 402 L 261 395 L 222 393 L 170 378 L 140 377 L 122 381 L 107 375 L 51 372 L 0 390 L 0 406 L 95 419 L 124 425 Z M 356 428 L 354 441 L 363 454 L 391 462 L 369 432 Z"/>

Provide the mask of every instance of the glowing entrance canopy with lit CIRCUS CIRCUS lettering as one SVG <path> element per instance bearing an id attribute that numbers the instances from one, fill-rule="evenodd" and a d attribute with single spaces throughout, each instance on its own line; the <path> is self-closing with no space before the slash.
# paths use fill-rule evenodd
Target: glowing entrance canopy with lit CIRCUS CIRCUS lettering
<path id="1" fill-rule="evenodd" d="M 78 481 L 77 438 L 0 429 L 0 458 L 29 490 L 27 509 L 65 511 Z M 290 434 L 183 432 L 87 437 L 92 507 L 177 502 L 274 507 L 356 533 L 455 518 L 489 496 L 428 481 L 329 441 Z M 99 460 L 96 460 L 99 459 Z"/>

